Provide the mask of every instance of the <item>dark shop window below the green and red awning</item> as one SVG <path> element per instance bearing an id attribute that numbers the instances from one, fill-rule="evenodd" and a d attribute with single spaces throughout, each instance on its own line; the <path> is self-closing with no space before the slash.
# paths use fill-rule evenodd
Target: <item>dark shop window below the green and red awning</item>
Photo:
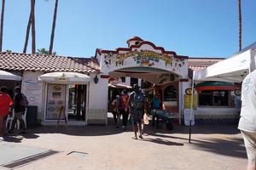
<path id="1" fill-rule="evenodd" d="M 199 92 L 199 105 L 229 106 L 229 91 L 205 90 Z"/>

